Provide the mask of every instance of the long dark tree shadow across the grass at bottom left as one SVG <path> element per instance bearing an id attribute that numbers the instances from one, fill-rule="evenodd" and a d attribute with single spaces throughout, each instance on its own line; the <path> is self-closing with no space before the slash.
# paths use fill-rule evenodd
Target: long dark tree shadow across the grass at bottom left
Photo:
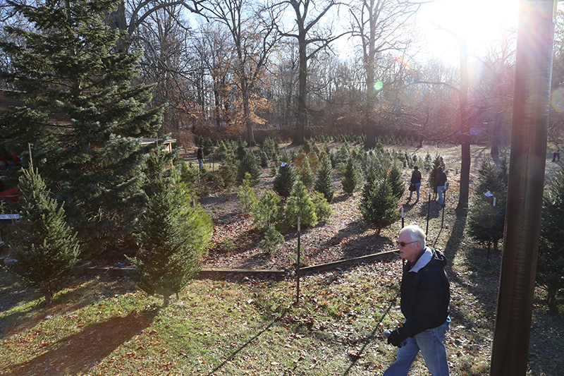
<path id="1" fill-rule="evenodd" d="M 46 346 L 54 349 L 16 365 L 10 375 L 82 375 L 118 346 L 149 327 L 154 313 L 130 313 L 82 329 Z"/>

